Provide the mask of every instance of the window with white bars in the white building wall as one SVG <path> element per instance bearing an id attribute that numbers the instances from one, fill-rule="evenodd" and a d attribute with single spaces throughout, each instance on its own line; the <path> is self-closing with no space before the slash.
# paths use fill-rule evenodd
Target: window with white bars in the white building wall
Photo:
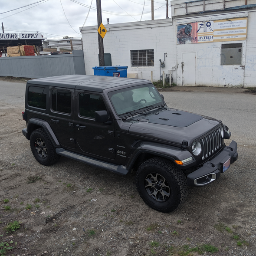
<path id="1" fill-rule="evenodd" d="M 154 66 L 154 49 L 150 50 L 131 50 L 132 67 Z"/>

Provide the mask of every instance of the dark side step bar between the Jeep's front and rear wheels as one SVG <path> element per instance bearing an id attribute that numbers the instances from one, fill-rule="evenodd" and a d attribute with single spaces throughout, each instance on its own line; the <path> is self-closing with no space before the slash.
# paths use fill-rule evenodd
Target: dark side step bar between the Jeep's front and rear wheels
<path id="1" fill-rule="evenodd" d="M 64 148 L 56 148 L 56 153 L 66 158 L 71 158 L 85 164 L 112 171 L 117 174 L 126 175 L 128 173 L 128 170 L 124 165 L 110 164 L 103 161 L 95 160 L 89 157 L 82 156 L 80 154 L 67 151 Z"/>

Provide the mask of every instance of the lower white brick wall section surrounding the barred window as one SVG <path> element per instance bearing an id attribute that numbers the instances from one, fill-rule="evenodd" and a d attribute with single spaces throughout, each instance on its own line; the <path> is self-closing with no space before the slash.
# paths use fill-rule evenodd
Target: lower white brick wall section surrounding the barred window
<path id="1" fill-rule="evenodd" d="M 111 53 L 112 66 L 128 66 L 128 73 L 137 73 L 138 78 L 160 79 L 160 61 L 164 60 L 162 71 L 176 67 L 176 53 L 171 19 L 149 20 L 134 23 L 104 25 L 107 33 L 104 37 L 104 53 Z M 83 49 L 85 55 L 85 71 L 93 75 L 92 67 L 98 66 L 98 32 L 97 26 L 85 27 L 82 30 Z M 154 49 L 153 67 L 131 67 L 130 50 Z M 175 72 L 175 71 L 174 71 Z M 175 75 L 174 75 L 175 76 Z"/>

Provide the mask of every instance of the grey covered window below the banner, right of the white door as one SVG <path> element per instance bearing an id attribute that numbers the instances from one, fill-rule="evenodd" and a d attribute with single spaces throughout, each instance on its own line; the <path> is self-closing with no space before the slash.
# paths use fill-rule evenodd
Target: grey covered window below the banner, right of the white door
<path id="1" fill-rule="evenodd" d="M 242 43 L 227 43 L 221 45 L 220 65 L 242 64 Z"/>

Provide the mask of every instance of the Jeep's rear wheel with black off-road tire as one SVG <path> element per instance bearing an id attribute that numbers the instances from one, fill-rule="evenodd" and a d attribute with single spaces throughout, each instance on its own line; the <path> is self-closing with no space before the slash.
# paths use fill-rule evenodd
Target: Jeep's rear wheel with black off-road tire
<path id="1" fill-rule="evenodd" d="M 55 148 L 46 131 L 43 128 L 36 129 L 30 136 L 31 151 L 40 164 L 55 164 L 60 155 L 56 154 Z"/>

